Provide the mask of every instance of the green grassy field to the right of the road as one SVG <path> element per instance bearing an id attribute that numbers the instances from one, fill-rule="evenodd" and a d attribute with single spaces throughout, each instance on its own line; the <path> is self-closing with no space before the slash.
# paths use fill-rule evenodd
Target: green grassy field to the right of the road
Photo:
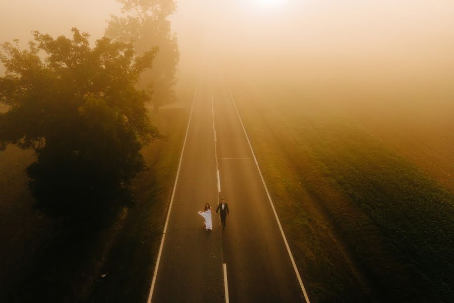
<path id="1" fill-rule="evenodd" d="M 357 112 L 270 87 L 231 82 L 311 301 L 454 300 L 454 195 L 404 153 L 414 133 L 394 123 L 396 148 Z"/>

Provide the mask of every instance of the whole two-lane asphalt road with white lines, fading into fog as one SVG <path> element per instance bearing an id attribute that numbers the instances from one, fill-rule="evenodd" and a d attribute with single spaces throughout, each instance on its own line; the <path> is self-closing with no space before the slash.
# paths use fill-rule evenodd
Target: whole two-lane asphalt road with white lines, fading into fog
<path id="1" fill-rule="evenodd" d="M 199 84 L 148 302 L 304 302 L 289 251 L 230 88 Z"/>

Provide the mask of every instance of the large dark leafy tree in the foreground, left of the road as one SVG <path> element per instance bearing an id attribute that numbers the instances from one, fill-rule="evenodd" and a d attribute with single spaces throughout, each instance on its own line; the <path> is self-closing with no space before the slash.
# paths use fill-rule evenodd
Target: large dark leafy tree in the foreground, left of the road
<path id="1" fill-rule="evenodd" d="M 144 168 L 141 147 L 159 136 L 136 89 L 156 49 L 135 56 L 131 42 L 89 35 L 52 38 L 34 32 L 21 50 L 3 43 L 0 60 L 0 147 L 31 148 L 37 161 L 27 168 L 38 202 L 67 211 L 81 201 L 122 187 Z"/>

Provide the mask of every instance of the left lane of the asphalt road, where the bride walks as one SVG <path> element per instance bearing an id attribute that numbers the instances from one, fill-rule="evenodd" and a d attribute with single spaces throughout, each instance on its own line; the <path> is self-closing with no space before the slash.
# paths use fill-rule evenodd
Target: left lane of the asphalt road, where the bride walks
<path id="1" fill-rule="evenodd" d="M 148 301 L 225 301 L 218 220 L 213 216 L 213 230 L 207 232 L 197 214 L 205 203 L 217 207 L 211 116 L 211 91 L 199 87 Z"/>

